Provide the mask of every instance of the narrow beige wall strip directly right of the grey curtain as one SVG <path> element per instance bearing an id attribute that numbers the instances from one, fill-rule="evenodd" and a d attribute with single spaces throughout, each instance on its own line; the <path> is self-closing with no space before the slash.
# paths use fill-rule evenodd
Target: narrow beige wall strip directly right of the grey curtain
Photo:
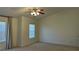
<path id="1" fill-rule="evenodd" d="M 17 47 L 18 19 L 12 18 L 12 46 Z"/>

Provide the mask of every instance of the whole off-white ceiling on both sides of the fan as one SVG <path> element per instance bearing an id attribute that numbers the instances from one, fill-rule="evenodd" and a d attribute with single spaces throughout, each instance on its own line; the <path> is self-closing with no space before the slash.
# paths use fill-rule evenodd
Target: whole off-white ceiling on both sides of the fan
<path id="1" fill-rule="evenodd" d="M 0 15 L 13 16 L 13 17 L 25 15 L 25 8 L 26 8 L 26 11 L 28 11 L 27 7 L 0 7 Z M 65 7 L 42 7 L 42 8 L 45 10 L 45 14 L 36 16 L 37 19 L 68 9 Z M 26 15 L 31 16 L 28 14 L 28 12 L 26 12 Z"/>

